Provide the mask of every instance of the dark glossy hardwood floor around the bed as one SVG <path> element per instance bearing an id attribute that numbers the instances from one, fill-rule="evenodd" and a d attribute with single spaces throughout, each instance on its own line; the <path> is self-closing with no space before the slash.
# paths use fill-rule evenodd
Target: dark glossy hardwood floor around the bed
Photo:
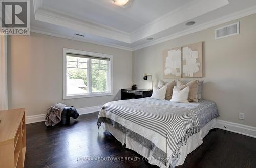
<path id="1" fill-rule="evenodd" d="M 108 131 L 98 130 L 97 116 L 81 115 L 68 126 L 26 125 L 25 167 L 156 167 L 125 149 Z M 213 129 L 183 167 L 256 167 L 256 139 Z"/>

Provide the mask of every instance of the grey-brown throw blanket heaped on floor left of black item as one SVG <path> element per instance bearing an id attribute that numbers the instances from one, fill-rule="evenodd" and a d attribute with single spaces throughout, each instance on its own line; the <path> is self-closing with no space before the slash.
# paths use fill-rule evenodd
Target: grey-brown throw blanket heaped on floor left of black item
<path id="1" fill-rule="evenodd" d="M 65 104 L 54 103 L 53 106 L 49 107 L 46 115 L 46 126 L 54 126 L 61 121 L 61 113 L 66 107 Z"/>

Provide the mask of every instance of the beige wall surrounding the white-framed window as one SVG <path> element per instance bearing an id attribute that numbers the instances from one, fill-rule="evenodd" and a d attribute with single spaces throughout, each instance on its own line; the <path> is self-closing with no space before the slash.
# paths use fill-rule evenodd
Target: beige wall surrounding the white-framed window
<path id="1" fill-rule="evenodd" d="M 113 96 L 62 99 L 62 48 L 113 55 Z M 45 114 L 54 102 L 76 108 L 103 105 L 121 98 L 132 85 L 132 52 L 31 33 L 8 37 L 8 106 L 26 108 L 26 116 Z"/>

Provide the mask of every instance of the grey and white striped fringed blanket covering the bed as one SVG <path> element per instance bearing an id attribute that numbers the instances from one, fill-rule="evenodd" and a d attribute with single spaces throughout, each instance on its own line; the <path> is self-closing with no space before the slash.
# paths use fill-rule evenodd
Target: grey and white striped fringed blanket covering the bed
<path id="1" fill-rule="evenodd" d="M 202 117 L 203 113 L 209 115 Z M 218 117 L 218 110 L 211 101 L 184 104 L 143 98 L 106 103 L 99 113 L 97 125 L 111 124 L 150 149 L 152 156 L 164 166 L 174 167 L 180 147 L 200 131 L 200 126 L 215 117 Z"/>

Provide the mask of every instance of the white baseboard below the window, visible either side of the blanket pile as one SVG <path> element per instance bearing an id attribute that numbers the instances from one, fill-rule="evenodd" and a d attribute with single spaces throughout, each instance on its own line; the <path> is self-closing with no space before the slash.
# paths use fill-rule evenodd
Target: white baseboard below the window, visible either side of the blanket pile
<path id="1" fill-rule="evenodd" d="M 77 108 L 76 110 L 78 111 L 78 113 L 80 115 L 84 115 L 84 114 L 95 113 L 97 111 L 100 111 L 101 107 L 102 107 L 102 105 L 93 106 L 93 107 L 85 107 L 85 108 Z M 45 117 L 46 117 L 46 114 L 26 116 L 26 124 L 45 121 Z"/>

